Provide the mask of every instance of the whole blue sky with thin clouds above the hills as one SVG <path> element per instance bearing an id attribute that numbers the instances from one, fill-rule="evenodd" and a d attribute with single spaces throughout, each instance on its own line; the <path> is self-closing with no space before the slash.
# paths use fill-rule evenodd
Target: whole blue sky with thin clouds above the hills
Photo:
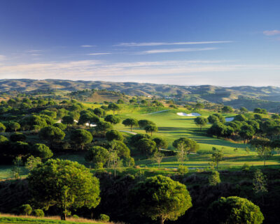
<path id="1" fill-rule="evenodd" d="M 0 79 L 280 87 L 279 0 L 1 0 Z"/>

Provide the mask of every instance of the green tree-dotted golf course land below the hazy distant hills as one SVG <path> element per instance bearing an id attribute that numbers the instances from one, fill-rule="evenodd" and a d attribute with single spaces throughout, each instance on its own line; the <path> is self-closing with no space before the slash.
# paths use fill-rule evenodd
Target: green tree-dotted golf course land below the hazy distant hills
<path id="1" fill-rule="evenodd" d="M 277 223 L 279 114 L 105 90 L 112 100 L 80 100 L 97 92 L 1 100 L 1 212 Z"/>

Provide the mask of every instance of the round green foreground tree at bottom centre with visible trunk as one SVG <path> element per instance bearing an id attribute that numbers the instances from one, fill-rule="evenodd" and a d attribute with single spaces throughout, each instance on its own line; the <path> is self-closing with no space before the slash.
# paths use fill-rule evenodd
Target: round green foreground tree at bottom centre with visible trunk
<path id="1" fill-rule="evenodd" d="M 162 175 L 139 182 L 130 191 L 130 200 L 140 214 L 152 220 L 159 218 L 162 224 L 177 220 L 193 206 L 186 185 Z"/>

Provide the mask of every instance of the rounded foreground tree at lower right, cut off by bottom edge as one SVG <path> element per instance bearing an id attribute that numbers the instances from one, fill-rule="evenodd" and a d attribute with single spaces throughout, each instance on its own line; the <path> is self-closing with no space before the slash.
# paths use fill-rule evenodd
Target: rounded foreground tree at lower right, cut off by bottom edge
<path id="1" fill-rule="evenodd" d="M 242 197 L 221 197 L 210 204 L 209 223 L 261 224 L 264 217 L 260 208 Z"/>

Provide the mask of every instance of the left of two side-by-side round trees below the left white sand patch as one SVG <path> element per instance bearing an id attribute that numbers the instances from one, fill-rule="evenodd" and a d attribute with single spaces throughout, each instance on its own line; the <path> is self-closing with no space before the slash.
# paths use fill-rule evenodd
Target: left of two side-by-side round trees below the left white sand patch
<path id="1" fill-rule="evenodd" d="M 50 142 L 50 144 L 53 142 L 60 142 L 65 137 L 63 130 L 54 126 L 46 126 L 45 128 L 42 128 L 39 135 L 44 140 Z"/>

